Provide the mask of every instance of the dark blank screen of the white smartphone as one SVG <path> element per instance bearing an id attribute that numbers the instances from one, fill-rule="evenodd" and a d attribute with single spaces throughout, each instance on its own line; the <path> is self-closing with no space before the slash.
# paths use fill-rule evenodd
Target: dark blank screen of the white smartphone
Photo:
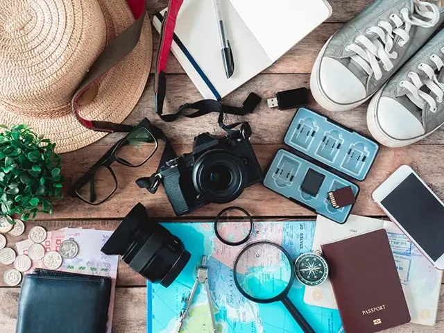
<path id="1" fill-rule="evenodd" d="M 444 253 L 444 206 L 411 173 L 384 200 L 382 206 L 436 262 Z"/>

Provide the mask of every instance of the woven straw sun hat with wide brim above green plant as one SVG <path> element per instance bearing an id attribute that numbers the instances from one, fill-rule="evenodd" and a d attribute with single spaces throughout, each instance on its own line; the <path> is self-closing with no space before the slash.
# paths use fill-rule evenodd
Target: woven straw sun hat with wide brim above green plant
<path id="1" fill-rule="evenodd" d="M 71 98 L 105 45 L 133 22 L 125 0 L 0 0 L 0 123 L 28 124 L 58 153 L 103 137 L 78 122 Z M 142 95 L 152 51 L 145 17 L 137 46 L 96 81 L 81 117 L 121 123 Z"/>

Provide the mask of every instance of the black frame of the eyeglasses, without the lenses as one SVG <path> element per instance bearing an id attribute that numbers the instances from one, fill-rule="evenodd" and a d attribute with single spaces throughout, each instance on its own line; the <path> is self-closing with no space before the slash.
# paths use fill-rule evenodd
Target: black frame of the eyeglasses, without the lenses
<path id="1" fill-rule="evenodd" d="M 145 128 L 148 131 L 148 133 L 151 134 L 151 137 L 153 137 L 153 142 L 155 143 L 155 148 L 153 149 L 153 152 L 151 153 L 151 155 L 146 157 L 146 159 L 143 162 L 141 162 L 137 165 L 134 165 L 134 164 L 130 164 L 129 162 L 117 157 L 116 153 L 117 153 L 117 151 L 119 151 L 119 148 L 121 148 L 123 146 L 123 144 L 126 142 L 126 140 L 131 135 L 133 135 L 133 133 L 135 133 L 137 130 L 139 130 L 139 128 Z M 118 162 L 120 164 L 125 165 L 126 167 L 131 167 L 131 168 L 141 167 L 151 157 L 153 157 L 154 153 L 157 151 L 157 148 L 159 147 L 159 142 L 157 141 L 157 137 L 162 138 L 162 136 L 164 136 L 164 133 L 162 132 L 162 130 L 160 130 L 160 128 L 157 128 L 157 126 L 154 126 L 153 124 L 151 124 L 151 122 L 148 119 L 144 118 L 137 126 L 135 126 L 133 128 L 133 130 L 131 130 L 130 133 L 128 133 L 128 135 L 126 135 L 125 137 L 120 139 L 118 142 L 116 142 L 114 144 L 114 146 L 112 146 L 105 153 L 105 155 L 103 155 L 79 180 L 77 180 L 70 187 L 70 189 L 68 191 L 69 196 L 71 196 L 72 198 L 80 198 L 80 200 L 83 200 L 85 203 L 87 203 L 89 205 L 94 205 L 94 206 L 101 205 L 106 200 L 108 200 L 114 194 L 114 192 L 117 190 L 117 187 L 119 187 L 116 175 L 114 174 L 114 171 L 112 171 L 111 164 L 113 164 L 114 162 Z M 91 201 L 85 200 L 85 198 L 83 198 L 83 196 L 80 196 L 80 194 L 78 194 L 77 190 L 82 188 L 83 186 L 85 186 L 87 184 L 87 182 L 89 182 L 89 181 L 94 182 L 94 179 L 92 179 L 94 176 L 92 176 L 92 175 L 94 175 L 94 173 L 96 173 L 96 171 L 101 167 L 105 167 L 106 169 L 108 169 L 108 171 L 110 171 L 112 178 L 114 178 L 115 187 L 105 199 L 101 200 L 98 203 L 92 203 Z"/>

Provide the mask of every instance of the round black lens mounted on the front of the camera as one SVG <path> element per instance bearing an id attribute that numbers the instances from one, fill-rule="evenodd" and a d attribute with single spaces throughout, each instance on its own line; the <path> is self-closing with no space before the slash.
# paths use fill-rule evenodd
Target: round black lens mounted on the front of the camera
<path id="1" fill-rule="evenodd" d="M 245 189 L 246 167 L 230 151 L 207 151 L 194 164 L 193 183 L 205 200 L 211 203 L 229 203 Z"/>

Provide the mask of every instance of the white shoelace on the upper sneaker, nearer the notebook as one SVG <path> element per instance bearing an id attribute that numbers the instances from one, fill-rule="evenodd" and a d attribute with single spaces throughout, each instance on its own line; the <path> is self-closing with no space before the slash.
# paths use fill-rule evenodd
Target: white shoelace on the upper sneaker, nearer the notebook
<path id="1" fill-rule="evenodd" d="M 392 52 L 395 37 L 400 37 L 398 44 L 402 47 L 409 42 L 411 26 L 431 28 L 439 21 L 440 13 L 436 5 L 420 0 L 413 0 L 413 3 L 415 16 L 410 15 L 408 8 L 402 8 L 400 11 L 401 17 L 392 14 L 390 15 L 391 22 L 379 21 L 378 26 L 367 29 L 366 34 L 376 34 L 378 37 L 376 40 L 372 41 L 365 35 L 359 35 L 354 44 L 345 47 L 346 51 L 357 53 L 350 58 L 362 67 L 369 76 L 375 74 L 376 80 L 382 78 L 380 62 L 382 62 L 385 71 L 391 71 L 394 67 L 391 59 L 398 58 L 398 53 Z M 418 19 L 417 16 L 425 17 L 427 21 Z M 395 24 L 395 28 L 393 28 L 393 24 Z"/>

